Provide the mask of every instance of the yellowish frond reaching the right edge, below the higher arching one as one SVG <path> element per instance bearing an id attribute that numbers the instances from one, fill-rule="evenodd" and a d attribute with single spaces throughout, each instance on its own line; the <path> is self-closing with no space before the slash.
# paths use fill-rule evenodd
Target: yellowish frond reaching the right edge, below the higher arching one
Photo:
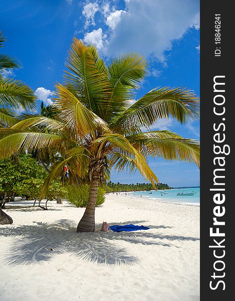
<path id="1" fill-rule="evenodd" d="M 200 166 L 200 146 L 193 139 L 168 131 L 150 131 L 126 137 L 145 157 L 164 158 L 194 163 Z"/>

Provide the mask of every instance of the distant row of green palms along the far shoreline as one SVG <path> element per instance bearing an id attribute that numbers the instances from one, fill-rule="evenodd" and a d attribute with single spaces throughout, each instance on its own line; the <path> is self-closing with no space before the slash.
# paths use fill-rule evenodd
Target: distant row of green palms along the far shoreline
<path id="1" fill-rule="evenodd" d="M 143 190 L 154 190 L 154 189 L 171 189 L 167 184 L 158 183 L 155 187 L 151 183 L 136 183 L 136 184 L 121 184 L 108 182 L 107 192 L 121 192 L 121 191 L 143 191 Z"/>

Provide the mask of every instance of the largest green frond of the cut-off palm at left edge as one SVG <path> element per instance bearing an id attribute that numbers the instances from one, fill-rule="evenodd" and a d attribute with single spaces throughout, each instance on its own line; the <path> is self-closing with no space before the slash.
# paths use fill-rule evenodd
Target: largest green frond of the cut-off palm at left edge
<path id="1" fill-rule="evenodd" d="M 0 105 L 33 109 L 36 106 L 34 91 L 20 80 L 0 80 Z"/>

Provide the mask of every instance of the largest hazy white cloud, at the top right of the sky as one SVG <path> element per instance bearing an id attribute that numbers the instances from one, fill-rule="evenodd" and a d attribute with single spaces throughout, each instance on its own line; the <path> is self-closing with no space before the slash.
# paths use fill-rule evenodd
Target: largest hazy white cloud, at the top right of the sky
<path id="1" fill-rule="evenodd" d="M 199 25 L 196 0 L 128 0 L 125 3 L 126 13 L 118 15 L 116 12 L 120 11 L 116 11 L 110 14 L 111 20 L 107 18 L 112 28 L 107 56 L 137 51 L 164 62 L 164 51 L 171 49 L 172 41 L 182 38 L 190 27 Z"/>

